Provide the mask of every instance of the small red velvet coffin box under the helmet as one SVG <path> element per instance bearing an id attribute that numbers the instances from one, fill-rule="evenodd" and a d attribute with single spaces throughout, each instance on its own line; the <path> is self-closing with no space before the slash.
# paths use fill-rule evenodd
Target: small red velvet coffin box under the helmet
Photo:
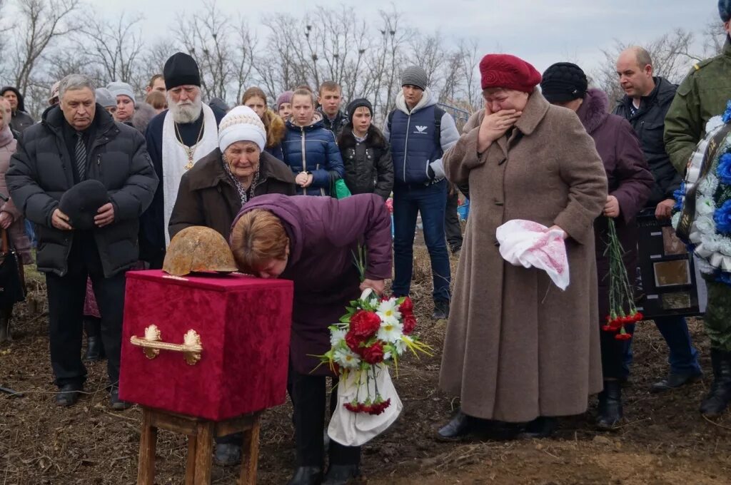
<path id="1" fill-rule="evenodd" d="M 291 281 L 245 275 L 127 272 L 119 396 L 215 421 L 282 404 L 292 292 Z M 162 343 L 182 344 L 186 332 L 197 332 L 200 360 L 133 345 L 153 324 Z"/>

